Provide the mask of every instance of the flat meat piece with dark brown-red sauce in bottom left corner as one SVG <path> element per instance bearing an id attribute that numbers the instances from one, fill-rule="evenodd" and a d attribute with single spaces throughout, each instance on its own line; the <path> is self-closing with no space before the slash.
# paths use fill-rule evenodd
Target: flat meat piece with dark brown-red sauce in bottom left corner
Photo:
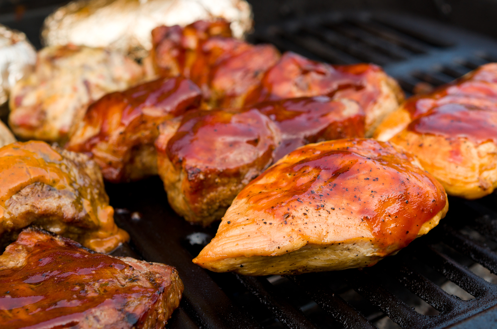
<path id="1" fill-rule="evenodd" d="M 174 267 L 93 253 L 26 229 L 0 256 L 2 328 L 164 328 L 183 283 Z"/>

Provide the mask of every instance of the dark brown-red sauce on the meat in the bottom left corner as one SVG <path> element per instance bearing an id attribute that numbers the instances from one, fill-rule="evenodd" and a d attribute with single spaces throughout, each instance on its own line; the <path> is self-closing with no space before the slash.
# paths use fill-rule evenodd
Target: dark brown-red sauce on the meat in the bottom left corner
<path id="1" fill-rule="evenodd" d="M 129 267 L 123 261 L 38 235 L 22 233 L 15 242 L 27 246 L 25 265 L 0 270 L 2 328 L 72 328 L 93 308 L 122 310 L 131 299 L 158 298 L 153 286 L 116 284 Z"/>

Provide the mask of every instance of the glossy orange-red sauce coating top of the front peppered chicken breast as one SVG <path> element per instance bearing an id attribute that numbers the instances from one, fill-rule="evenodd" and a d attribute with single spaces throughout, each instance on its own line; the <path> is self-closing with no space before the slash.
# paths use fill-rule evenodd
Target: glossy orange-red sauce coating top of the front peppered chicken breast
<path id="1" fill-rule="evenodd" d="M 435 178 L 388 144 L 365 140 L 333 149 L 331 143 L 293 152 L 300 161 L 271 167 L 237 198 L 248 198 L 254 210 L 285 225 L 306 224 L 305 218 L 291 216 L 302 207 L 309 218 L 321 214 L 338 221 L 360 218 L 379 247 L 405 247 L 445 207 L 444 189 Z M 371 150 L 364 152 L 365 147 Z M 275 179 L 265 183 L 266 176 Z"/>

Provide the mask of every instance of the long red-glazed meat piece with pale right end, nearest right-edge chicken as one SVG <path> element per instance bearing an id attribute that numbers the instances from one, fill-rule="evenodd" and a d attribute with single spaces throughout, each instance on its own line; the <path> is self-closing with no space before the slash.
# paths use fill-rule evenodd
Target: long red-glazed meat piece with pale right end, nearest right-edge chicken
<path id="1" fill-rule="evenodd" d="M 366 114 L 366 136 L 371 136 L 403 99 L 398 83 L 376 65 L 331 66 L 287 52 L 247 95 L 245 104 L 317 95 L 357 101 Z"/>

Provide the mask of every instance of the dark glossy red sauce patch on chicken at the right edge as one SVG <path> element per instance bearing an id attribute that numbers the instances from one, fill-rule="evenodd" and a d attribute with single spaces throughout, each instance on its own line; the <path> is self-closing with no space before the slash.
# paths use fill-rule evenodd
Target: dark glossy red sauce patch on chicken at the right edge
<path id="1" fill-rule="evenodd" d="M 407 129 L 418 134 L 464 137 L 475 144 L 488 141 L 497 144 L 497 111 L 462 104 L 446 104 L 419 116 Z"/>

